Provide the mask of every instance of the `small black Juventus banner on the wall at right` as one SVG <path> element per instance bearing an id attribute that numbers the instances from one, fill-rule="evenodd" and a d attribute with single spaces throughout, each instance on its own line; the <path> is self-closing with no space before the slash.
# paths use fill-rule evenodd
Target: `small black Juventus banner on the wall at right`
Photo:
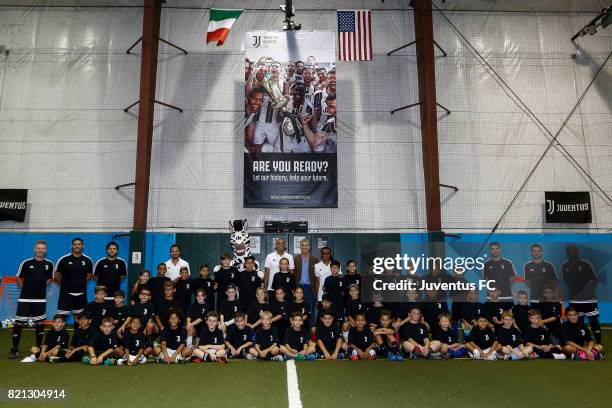
<path id="1" fill-rule="evenodd" d="M 592 219 L 591 195 L 588 191 L 547 191 L 546 222 L 586 224 Z"/>

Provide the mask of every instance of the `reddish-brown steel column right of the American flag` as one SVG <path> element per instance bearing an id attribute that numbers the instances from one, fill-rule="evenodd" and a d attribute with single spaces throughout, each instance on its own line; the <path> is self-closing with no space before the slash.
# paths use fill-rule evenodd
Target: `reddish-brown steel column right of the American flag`
<path id="1" fill-rule="evenodd" d="M 421 146 L 423 149 L 427 231 L 430 236 L 430 251 L 439 254 L 439 241 L 441 237 L 443 241 L 443 233 L 441 233 L 436 65 L 431 0 L 413 0 L 412 7 L 414 9 L 419 100 L 421 101 L 419 108 L 421 112 Z M 432 247 L 432 244 L 435 248 Z"/>

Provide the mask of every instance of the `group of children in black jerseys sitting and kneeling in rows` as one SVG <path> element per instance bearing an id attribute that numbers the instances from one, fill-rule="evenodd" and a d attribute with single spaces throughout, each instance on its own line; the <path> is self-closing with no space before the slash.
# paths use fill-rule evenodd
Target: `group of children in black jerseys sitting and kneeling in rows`
<path id="1" fill-rule="evenodd" d="M 185 268 L 174 282 L 165 277 L 164 264 L 158 266 L 156 277 L 144 271 L 132 290 L 129 313 L 123 292 L 114 293 L 114 301 L 108 302 L 105 288 L 97 286 L 95 299 L 76 317 L 72 339 L 64 329 L 64 317 L 57 315 L 44 344 L 32 348 L 32 358 L 133 366 L 148 360 L 225 364 L 228 359 L 603 356 L 600 339 L 591 337 L 573 307 L 561 322 L 561 303 L 553 299 L 552 288 L 545 289 L 545 301 L 533 305 L 524 292 L 514 305 L 498 301 L 496 290 L 488 293 L 485 303 L 471 291 L 465 302 L 453 303 L 451 314 L 446 298 L 436 291 L 428 291 L 424 299 L 408 291 L 399 304 L 383 304 L 380 293 L 372 302 L 362 302 L 355 263 L 350 261 L 348 273 L 341 276 L 340 264 L 333 261 L 315 319 L 286 263 L 280 263 L 273 290 L 267 292 L 252 257 L 242 272 L 229 266 L 230 259 L 222 258 L 214 280 L 206 266 L 196 279 Z"/>

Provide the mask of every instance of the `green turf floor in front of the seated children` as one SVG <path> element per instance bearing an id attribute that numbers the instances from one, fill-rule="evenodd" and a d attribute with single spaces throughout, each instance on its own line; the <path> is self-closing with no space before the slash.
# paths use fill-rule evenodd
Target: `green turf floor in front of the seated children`
<path id="1" fill-rule="evenodd" d="M 612 331 L 604 340 L 612 342 Z M 22 357 L 32 331 L 24 331 Z M 280 362 L 237 361 L 139 367 L 23 364 L 8 360 L 10 333 L 0 332 L 0 388 L 64 388 L 65 401 L 26 406 L 165 408 L 287 407 L 287 370 Z M 298 362 L 308 407 L 612 406 L 612 362 L 576 361 L 314 361 Z M 4 398 L 4 397 L 3 397 Z M 0 400 L 2 406 L 17 406 Z M 24 403 L 20 402 L 23 406 Z"/>

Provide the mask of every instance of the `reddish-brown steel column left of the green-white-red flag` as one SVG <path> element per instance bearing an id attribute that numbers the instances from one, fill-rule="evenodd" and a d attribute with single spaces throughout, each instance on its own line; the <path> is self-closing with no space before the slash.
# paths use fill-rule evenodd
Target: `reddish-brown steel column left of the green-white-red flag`
<path id="1" fill-rule="evenodd" d="M 161 0 L 145 0 L 142 19 L 142 56 L 140 58 L 134 230 L 145 230 L 147 228 L 160 18 Z"/>

